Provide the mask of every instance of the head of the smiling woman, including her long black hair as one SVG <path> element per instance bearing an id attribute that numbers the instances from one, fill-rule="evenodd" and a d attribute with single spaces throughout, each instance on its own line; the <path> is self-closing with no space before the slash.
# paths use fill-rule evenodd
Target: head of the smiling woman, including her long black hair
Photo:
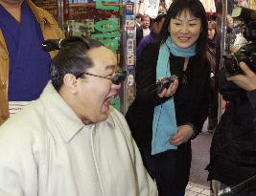
<path id="1" fill-rule="evenodd" d="M 206 12 L 199 0 L 175 0 L 167 11 L 159 41 L 171 35 L 175 45 L 189 48 L 197 42 L 196 54 L 205 57 L 208 24 Z"/>

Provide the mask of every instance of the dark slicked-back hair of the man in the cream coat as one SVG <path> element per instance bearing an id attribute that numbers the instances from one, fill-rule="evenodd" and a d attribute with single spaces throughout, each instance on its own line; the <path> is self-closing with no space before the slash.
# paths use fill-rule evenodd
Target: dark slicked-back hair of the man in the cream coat
<path id="1" fill-rule="evenodd" d="M 52 83 L 58 91 L 66 74 L 80 76 L 93 66 L 88 52 L 93 48 L 104 46 L 100 41 L 70 36 L 60 42 L 57 56 L 52 60 L 50 74 Z"/>

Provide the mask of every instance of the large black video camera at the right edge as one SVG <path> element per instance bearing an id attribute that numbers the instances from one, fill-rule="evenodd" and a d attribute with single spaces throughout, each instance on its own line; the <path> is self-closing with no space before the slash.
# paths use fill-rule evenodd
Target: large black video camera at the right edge
<path id="1" fill-rule="evenodd" d="M 238 7 L 232 11 L 232 17 L 244 21 L 243 35 L 250 43 L 241 47 L 235 54 L 223 55 L 226 75 L 244 74 L 239 66 L 242 61 L 256 73 L 256 11 Z"/>

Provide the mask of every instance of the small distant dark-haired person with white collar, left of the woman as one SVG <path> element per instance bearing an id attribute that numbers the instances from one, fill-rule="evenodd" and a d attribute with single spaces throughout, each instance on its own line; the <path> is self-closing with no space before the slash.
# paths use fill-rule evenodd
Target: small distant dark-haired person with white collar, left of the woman
<path id="1" fill-rule="evenodd" d="M 151 33 L 151 17 L 148 14 L 141 16 L 141 26 L 136 30 L 136 46 L 139 45 L 143 37 Z"/>

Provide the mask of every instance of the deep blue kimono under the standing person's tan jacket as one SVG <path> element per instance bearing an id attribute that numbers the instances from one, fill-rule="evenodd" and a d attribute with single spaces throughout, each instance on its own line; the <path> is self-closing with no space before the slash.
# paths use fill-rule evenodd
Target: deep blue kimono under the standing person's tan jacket
<path id="1" fill-rule="evenodd" d="M 42 50 L 43 35 L 26 1 L 21 6 L 20 23 L 0 5 L 0 29 L 10 55 L 9 100 L 38 98 L 50 79 L 51 57 Z"/>

